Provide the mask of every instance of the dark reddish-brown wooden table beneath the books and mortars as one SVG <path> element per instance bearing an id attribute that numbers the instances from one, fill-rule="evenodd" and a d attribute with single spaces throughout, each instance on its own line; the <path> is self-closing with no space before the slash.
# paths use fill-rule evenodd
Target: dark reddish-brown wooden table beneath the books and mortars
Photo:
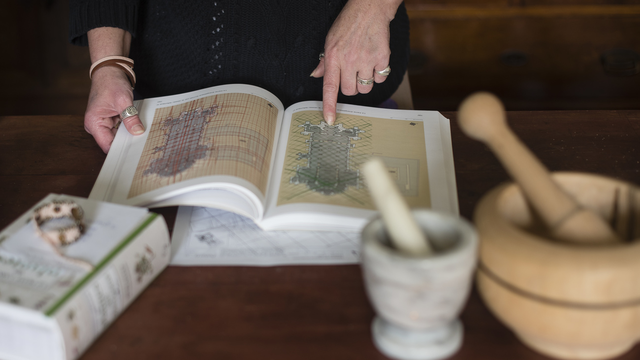
<path id="1" fill-rule="evenodd" d="M 462 216 L 507 180 L 495 157 L 452 120 Z M 640 184 L 640 111 L 510 112 L 514 131 L 551 170 Z M 88 196 L 105 155 L 78 116 L 0 117 L 0 228 L 46 194 Z M 175 208 L 160 209 L 171 226 Z M 386 359 L 359 266 L 169 267 L 83 360 Z M 522 345 L 476 291 L 451 359 L 546 359 Z M 620 359 L 640 358 L 640 346 Z"/>

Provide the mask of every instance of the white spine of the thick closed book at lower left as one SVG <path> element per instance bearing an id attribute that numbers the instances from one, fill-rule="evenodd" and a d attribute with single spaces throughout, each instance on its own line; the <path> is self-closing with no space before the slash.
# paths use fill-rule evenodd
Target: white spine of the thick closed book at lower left
<path id="1" fill-rule="evenodd" d="M 151 283 L 169 264 L 170 253 L 167 225 L 152 214 L 93 277 L 48 311 L 58 323 L 67 360 L 78 358 Z"/>

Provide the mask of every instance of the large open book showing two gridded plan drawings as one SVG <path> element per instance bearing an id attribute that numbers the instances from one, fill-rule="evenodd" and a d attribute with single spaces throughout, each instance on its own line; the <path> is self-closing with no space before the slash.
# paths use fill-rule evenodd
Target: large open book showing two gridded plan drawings
<path id="1" fill-rule="evenodd" d="M 223 85 L 136 104 L 147 129 L 121 127 L 90 198 L 215 207 L 267 230 L 359 231 L 375 214 L 360 165 L 380 157 L 410 207 L 458 213 L 449 120 L 435 111 L 322 103 L 284 109 L 271 93 Z"/>

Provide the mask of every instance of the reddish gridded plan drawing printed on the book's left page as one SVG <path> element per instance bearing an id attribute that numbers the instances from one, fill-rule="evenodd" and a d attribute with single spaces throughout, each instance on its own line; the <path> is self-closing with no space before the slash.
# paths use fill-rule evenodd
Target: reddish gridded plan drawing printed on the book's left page
<path id="1" fill-rule="evenodd" d="M 239 93 L 158 108 L 128 197 L 212 175 L 266 191 L 277 117 L 269 101 Z"/>

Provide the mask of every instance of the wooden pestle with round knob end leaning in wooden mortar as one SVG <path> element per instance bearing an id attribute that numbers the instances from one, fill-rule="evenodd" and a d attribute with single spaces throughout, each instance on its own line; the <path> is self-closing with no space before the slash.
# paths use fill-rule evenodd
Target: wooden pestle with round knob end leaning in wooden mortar
<path id="1" fill-rule="evenodd" d="M 479 92 L 467 97 L 458 109 L 458 122 L 467 136 L 491 148 L 553 238 L 579 243 L 621 241 L 603 218 L 581 207 L 553 181 L 544 165 L 509 129 L 496 96 Z"/>

